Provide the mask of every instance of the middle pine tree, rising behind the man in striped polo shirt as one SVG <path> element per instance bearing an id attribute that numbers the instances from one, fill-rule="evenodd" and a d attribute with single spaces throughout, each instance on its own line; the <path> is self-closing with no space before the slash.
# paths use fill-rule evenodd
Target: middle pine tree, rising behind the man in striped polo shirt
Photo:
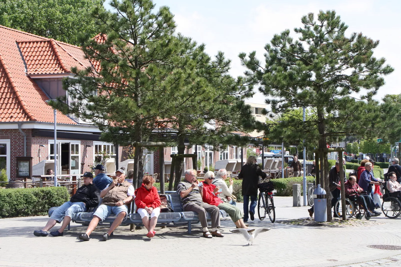
<path id="1" fill-rule="evenodd" d="M 255 119 L 243 101 L 253 93 L 228 74 L 230 61 L 222 52 L 212 59 L 204 44 L 180 35 L 178 40 L 182 57 L 174 62 L 174 72 L 163 87 L 170 113 L 160 123 L 174 129 L 178 154 L 184 154 L 186 142 L 208 144 L 215 150 L 227 144 L 246 145 L 248 138 L 235 132 L 254 129 Z M 183 162 L 176 159 L 174 189 L 180 182 Z M 170 181 L 169 190 L 172 184 Z"/>

